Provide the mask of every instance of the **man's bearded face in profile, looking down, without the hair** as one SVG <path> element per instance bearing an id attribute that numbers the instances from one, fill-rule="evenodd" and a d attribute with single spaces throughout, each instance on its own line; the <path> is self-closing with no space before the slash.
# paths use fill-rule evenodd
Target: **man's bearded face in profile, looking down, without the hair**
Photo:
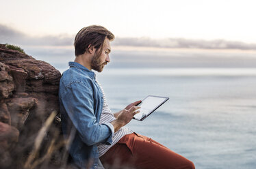
<path id="1" fill-rule="evenodd" d="M 110 51 L 110 40 L 106 38 L 101 54 L 99 54 L 100 49 L 94 52 L 94 56 L 92 57 L 91 61 L 92 70 L 96 70 L 97 72 L 103 71 L 104 66 L 110 62 Z"/>

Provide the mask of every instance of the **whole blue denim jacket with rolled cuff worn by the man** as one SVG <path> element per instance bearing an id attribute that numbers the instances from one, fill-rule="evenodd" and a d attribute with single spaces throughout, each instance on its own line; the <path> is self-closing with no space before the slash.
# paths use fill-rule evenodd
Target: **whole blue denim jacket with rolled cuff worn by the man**
<path id="1" fill-rule="evenodd" d="M 76 62 L 60 79 L 60 112 L 64 138 L 73 161 L 81 168 L 97 168 L 97 143 L 112 144 L 114 127 L 99 124 L 103 108 L 103 93 L 95 81 L 95 73 Z M 72 132 L 75 131 L 75 132 Z"/>

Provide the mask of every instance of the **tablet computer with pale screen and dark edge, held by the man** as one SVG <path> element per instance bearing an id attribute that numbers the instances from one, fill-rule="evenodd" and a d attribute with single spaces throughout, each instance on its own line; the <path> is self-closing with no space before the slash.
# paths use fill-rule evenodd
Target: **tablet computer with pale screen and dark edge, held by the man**
<path id="1" fill-rule="evenodd" d="M 169 97 L 162 97 L 162 96 L 155 96 L 155 95 L 148 95 L 146 98 L 142 99 L 142 102 L 137 106 L 140 106 L 140 112 L 133 116 L 133 119 L 138 121 L 143 121 L 146 117 L 157 110 L 162 104 L 164 104 Z"/>

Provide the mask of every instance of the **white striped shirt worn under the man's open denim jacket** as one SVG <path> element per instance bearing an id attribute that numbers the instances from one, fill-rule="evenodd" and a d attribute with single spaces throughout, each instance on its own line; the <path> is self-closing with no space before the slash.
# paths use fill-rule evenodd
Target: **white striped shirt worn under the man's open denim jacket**
<path id="1" fill-rule="evenodd" d="M 98 80 L 96 80 L 96 82 L 99 84 Z M 101 113 L 101 119 L 99 121 L 99 123 L 107 123 L 107 122 L 111 122 L 114 121 L 116 119 L 116 117 L 114 117 L 114 114 L 111 112 L 110 108 L 107 105 L 107 99 L 105 97 L 105 93 L 103 91 L 103 88 L 101 87 L 101 84 L 99 84 L 99 87 L 101 88 L 101 91 L 103 93 L 103 109 L 102 109 L 102 113 Z M 121 127 L 116 133 L 114 133 L 113 135 L 113 142 L 111 145 L 105 145 L 105 144 L 97 144 L 98 150 L 99 150 L 99 157 L 101 157 L 102 155 L 104 155 L 112 146 L 114 146 L 114 144 L 116 144 L 116 142 L 118 142 L 123 136 L 127 135 L 127 134 L 132 134 L 133 131 L 131 131 L 131 129 L 127 128 L 127 127 Z"/>

